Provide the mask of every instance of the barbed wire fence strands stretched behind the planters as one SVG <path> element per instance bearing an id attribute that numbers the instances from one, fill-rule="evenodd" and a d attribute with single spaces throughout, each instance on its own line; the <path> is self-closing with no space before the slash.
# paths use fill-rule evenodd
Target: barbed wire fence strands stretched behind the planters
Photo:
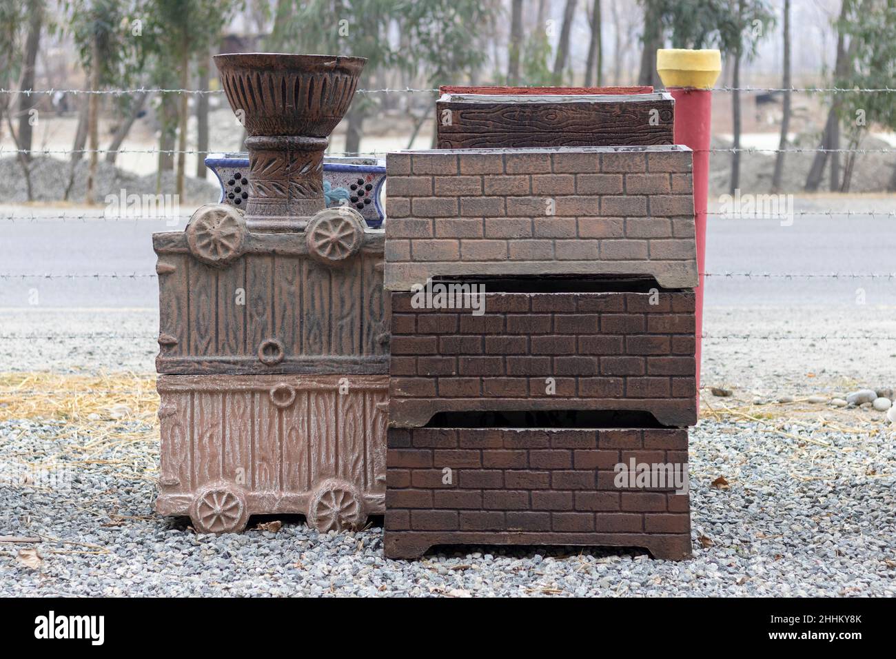
<path id="1" fill-rule="evenodd" d="M 879 87 L 879 88 L 839 88 L 839 87 L 728 87 L 721 86 L 711 91 L 728 93 L 733 91 L 745 93 L 803 93 L 803 94 L 847 94 L 847 93 L 893 93 L 896 88 Z M 116 90 L 77 90 L 77 89 L 47 89 L 47 90 L 10 90 L 0 88 L 0 95 L 10 95 L 13 98 L 17 95 L 54 95 L 58 93 L 71 95 L 100 95 L 119 97 L 127 94 L 147 94 L 147 93 L 166 93 L 166 94 L 189 94 L 195 96 L 202 95 L 219 95 L 223 94 L 223 90 L 194 90 L 194 89 L 177 89 L 177 88 L 148 88 L 140 87 L 134 89 L 116 89 Z M 437 94 L 438 89 L 435 88 L 382 88 L 382 89 L 362 89 L 355 92 L 358 95 L 371 94 L 390 94 L 390 93 L 412 93 L 412 94 Z M 702 150 L 697 150 L 702 151 Z M 802 148 L 788 147 L 780 148 L 758 148 L 758 147 L 730 147 L 730 148 L 711 148 L 705 150 L 710 153 L 893 153 L 896 148 L 837 148 L 828 149 L 823 147 Z M 90 153 L 142 153 L 152 155 L 204 155 L 209 152 L 199 150 L 159 150 L 159 149 L 9 149 L 0 145 L 0 157 L 4 154 L 29 154 L 29 155 L 72 155 L 72 154 L 90 154 Z M 378 157 L 385 155 L 386 152 L 327 152 L 328 156 L 340 157 Z M 743 212 L 707 212 L 708 216 L 721 219 L 770 219 L 762 212 L 743 213 Z M 829 217 L 829 218 L 894 218 L 896 211 L 855 211 L 842 210 L 840 208 L 827 208 L 819 210 L 800 210 L 789 212 L 788 215 L 797 217 Z M 40 213 L 40 212 L 24 212 L 16 210 L 15 212 L 7 212 L 0 214 L 0 221 L 172 221 L 189 219 L 190 215 L 116 215 L 108 212 L 57 212 Z M 777 218 L 771 218 L 777 219 Z M 769 280 L 819 280 L 819 281 L 837 281 L 837 280 L 871 280 L 892 282 L 896 280 L 896 272 L 893 273 L 762 273 L 762 272 L 715 272 L 702 273 L 702 276 L 708 278 L 720 279 L 742 279 L 746 281 L 762 282 Z M 157 279 L 156 273 L 0 273 L 0 281 L 28 281 L 28 280 L 153 280 Z M 0 341 L 32 341 L 32 340 L 58 340 L 58 339 L 133 339 L 133 340 L 154 340 L 158 338 L 154 334 L 117 334 L 117 333 L 82 333 L 82 334 L 0 334 Z M 789 334 L 789 333 L 768 333 L 768 334 L 702 334 L 702 339 L 712 341 L 892 341 L 896 340 L 896 335 L 887 336 L 875 333 L 869 334 Z M 23 393 L 23 392 L 20 392 Z M 45 393 L 45 392 L 39 392 Z"/>

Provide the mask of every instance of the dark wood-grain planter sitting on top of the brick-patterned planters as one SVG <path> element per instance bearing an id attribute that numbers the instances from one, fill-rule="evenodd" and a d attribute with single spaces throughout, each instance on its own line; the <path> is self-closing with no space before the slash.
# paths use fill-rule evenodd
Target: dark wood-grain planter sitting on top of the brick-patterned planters
<path id="1" fill-rule="evenodd" d="M 444 93 L 440 149 L 671 144 L 675 101 L 660 93 Z"/>

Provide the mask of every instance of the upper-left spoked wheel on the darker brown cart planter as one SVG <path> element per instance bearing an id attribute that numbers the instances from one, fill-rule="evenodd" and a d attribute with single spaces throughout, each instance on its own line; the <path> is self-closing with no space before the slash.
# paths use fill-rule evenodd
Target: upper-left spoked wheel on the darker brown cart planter
<path id="1" fill-rule="evenodd" d="M 227 204 L 205 204 L 186 225 L 186 242 L 199 261 L 223 268 L 243 254 L 246 220 Z"/>

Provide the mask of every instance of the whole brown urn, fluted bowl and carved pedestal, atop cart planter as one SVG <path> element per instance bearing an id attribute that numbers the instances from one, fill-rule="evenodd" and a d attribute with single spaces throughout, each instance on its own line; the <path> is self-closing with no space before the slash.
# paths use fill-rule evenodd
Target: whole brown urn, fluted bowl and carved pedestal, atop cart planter
<path id="1" fill-rule="evenodd" d="M 215 56 L 230 108 L 246 126 L 246 228 L 305 230 L 325 208 L 323 152 L 349 109 L 364 57 L 241 53 Z"/>

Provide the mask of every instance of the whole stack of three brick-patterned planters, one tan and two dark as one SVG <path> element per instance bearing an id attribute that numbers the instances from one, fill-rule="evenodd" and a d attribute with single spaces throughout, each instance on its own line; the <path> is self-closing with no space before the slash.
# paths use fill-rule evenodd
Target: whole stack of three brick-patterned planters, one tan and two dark
<path id="1" fill-rule="evenodd" d="M 393 153 L 385 548 L 606 544 L 690 553 L 691 153 L 670 145 Z M 479 283 L 485 312 L 412 287 Z"/>

